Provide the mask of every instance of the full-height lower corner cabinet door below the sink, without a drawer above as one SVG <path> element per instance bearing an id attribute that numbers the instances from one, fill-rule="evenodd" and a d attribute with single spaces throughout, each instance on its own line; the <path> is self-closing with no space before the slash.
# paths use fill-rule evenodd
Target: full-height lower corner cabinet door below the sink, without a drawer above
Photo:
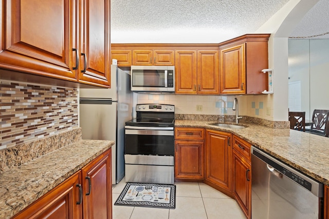
<path id="1" fill-rule="evenodd" d="M 206 131 L 206 180 L 231 191 L 231 134 Z"/>

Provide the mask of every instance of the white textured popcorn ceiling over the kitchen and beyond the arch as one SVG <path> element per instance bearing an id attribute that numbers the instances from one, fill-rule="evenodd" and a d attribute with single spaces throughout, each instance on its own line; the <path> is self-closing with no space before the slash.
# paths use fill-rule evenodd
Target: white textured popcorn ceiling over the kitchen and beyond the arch
<path id="1" fill-rule="evenodd" d="M 288 1 L 111 0 L 111 42 L 219 43 L 254 33 Z M 328 1 L 320 0 L 321 5 L 310 11 L 319 17 L 315 23 L 314 15 L 307 14 L 291 36 L 328 32 L 317 29 L 322 16 L 327 20 Z M 322 27 L 328 23 L 321 23 Z"/>

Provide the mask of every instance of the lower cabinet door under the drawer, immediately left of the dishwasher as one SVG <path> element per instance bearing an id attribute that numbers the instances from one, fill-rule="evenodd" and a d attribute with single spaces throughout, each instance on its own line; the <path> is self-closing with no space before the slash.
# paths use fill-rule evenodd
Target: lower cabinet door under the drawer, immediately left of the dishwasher
<path id="1" fill-rule="evenodd" d="M 251 165 L 234 149 L 232 166 L 233 195 L 247 218 L 251 218 Z"/>

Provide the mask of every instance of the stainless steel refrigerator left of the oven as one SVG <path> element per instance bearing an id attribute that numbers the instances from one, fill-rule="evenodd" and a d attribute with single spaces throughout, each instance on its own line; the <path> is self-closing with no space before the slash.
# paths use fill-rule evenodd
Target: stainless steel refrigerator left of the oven
<path id="1" fill-rule="evenodd" d="M 80 89 L 82 139 L 113 140 L 112 182 L 124 176 L 124 125 L 132 120 L 134 95 L 130 71 L 111 66 L 111 89 Z"/>

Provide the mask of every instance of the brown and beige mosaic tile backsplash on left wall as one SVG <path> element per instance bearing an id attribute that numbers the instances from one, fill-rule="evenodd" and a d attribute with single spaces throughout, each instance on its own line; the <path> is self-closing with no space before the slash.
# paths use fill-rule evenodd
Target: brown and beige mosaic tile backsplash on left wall
<path id="1" fill-rule="evenodd" d="M 78 127 L 78 90 L 0 82 L 0 150 Z"/>

